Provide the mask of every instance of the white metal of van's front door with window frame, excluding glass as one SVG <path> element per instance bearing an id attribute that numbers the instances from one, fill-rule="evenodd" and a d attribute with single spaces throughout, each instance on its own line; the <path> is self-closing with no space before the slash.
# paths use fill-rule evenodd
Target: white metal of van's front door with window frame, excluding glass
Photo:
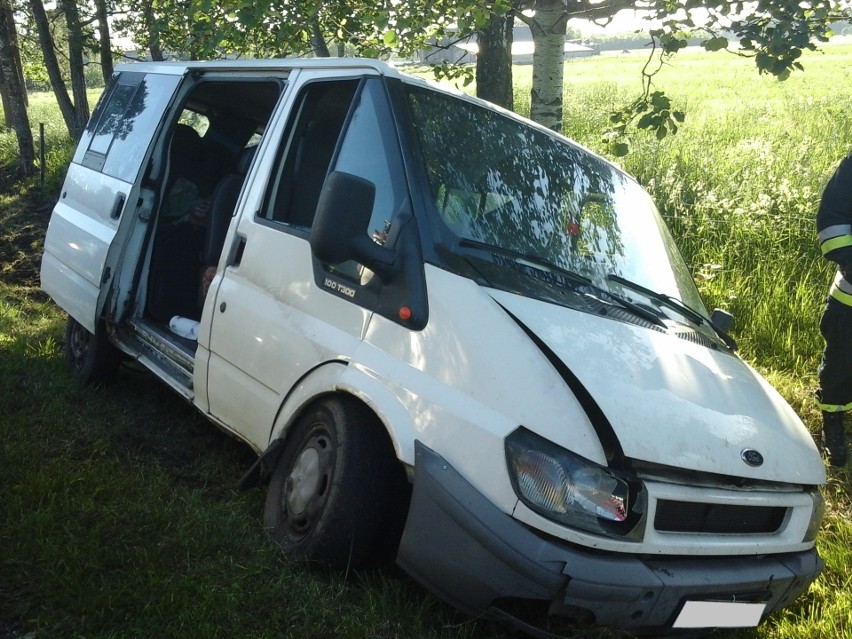
<path id="1" fill-rule="evenodd" d="M 257 62 L 259 69 L 269 66 L 269 61 Z M 229 66 L 221 64 L 223 70 Z M 304 68 L 292 69 L 288 75 L 288 89 L 246 178 L 252 188 L 241 193 L 226 234 L 217 275 L 205 300 L 194 370 L 195 403 L 258 450 L 268 444 L 272 424 L 296 380 L 321 362 L 345 360 L 340 354 L 354 349 L 350 342 L 360 340 L 370 315 L 317 288 L 306 238 L 253 219 L 300 87 L 329 75 L 328 70 L 312 70 L 327 65 L 310 60 L 298 66 Z M 369 61 L 350 60 L 331 74 L 361 77 L 379 70 Z M 241 244 L 250 248 L 236 264 Z M 306 334 L 315 340 L 305 340 Z M 335 336 L 343 340 L 337 350 L 332 345 L 340 339 Z M 238 401 L 229 399 L 235 388 L 240 389 Z"/>

